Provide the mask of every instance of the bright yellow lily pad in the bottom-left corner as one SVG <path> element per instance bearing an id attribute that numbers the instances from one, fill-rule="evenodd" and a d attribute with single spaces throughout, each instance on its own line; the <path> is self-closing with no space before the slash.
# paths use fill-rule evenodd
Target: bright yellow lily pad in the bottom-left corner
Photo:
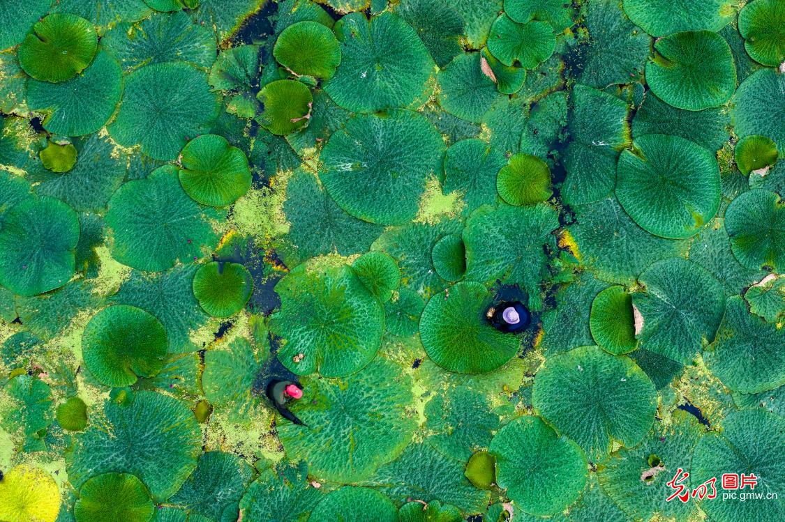
<path id="1" fill-rule="evenodd" d="M 0 481 L 0 520 L 54 522 L 60 511 L 60 490 L 42 469 L 21 464 Z"/>

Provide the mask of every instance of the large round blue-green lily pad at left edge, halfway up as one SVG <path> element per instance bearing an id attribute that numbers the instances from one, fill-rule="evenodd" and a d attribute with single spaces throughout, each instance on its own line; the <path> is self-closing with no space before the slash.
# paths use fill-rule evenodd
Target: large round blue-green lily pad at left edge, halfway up
<path id="1" fill-rule="evenodd" d="M 75 270 L 79 219 L 63 201 L 28 198 L 9 208 L 0 228 L 0 285 L 36 295 L 65 285 Z"/>

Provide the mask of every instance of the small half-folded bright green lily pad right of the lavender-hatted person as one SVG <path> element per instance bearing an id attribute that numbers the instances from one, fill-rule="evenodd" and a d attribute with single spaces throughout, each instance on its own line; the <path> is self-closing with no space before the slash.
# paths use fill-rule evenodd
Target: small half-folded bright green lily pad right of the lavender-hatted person
<path id="1" fill-rule="evenodd" d="M 594 342 L 603 350 L 621 355 L 635 350 L 633 299 L 623 286 L 605 288 L 591 305 L 589 327 Z"/>

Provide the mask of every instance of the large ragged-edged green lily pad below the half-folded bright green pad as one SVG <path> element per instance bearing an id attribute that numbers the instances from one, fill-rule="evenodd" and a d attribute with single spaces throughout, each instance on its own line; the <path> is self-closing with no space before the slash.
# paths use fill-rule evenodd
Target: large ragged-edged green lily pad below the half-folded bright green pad
<path id="1" fill-rule="evenodd" d="M 615 441 L 632 448 L 643 440 L 654 422 L 657 392 L 629 357 L 582 346 L 545 361 L 535 377 L 531 404 L 591 461 L 599 462 Z"/>

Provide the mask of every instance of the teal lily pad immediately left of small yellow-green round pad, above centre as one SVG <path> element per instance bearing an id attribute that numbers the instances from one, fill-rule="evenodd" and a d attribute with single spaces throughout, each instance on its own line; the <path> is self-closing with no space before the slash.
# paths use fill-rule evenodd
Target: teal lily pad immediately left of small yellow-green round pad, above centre
<path id="1" fill-rule="evenodd" d="M 506 165 L 504 154 L 482 140 L 453 143 L 444 158 L 444 194 L 462 193 L 466 212 L 496 202 L 496 176 Z"/>

